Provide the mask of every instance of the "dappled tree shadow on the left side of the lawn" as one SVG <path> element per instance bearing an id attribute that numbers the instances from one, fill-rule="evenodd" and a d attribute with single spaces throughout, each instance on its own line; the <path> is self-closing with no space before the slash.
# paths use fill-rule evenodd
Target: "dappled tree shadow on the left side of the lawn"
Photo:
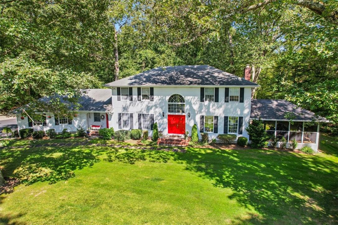
<path id="1" fill-rule="evenodd" d="M 41 147 L 2 150 L 4 176 L 13 176 L 26 185 L 37 181 L 53 184 L 74 176 L 74 170 L 98 162 L 99 151 L 69 147 Z"/>

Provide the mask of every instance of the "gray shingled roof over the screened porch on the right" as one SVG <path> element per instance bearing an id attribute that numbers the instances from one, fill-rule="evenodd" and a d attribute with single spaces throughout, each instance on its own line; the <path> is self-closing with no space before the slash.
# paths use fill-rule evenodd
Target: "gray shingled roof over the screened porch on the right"
<path id="1" fill-rule="evenodd" d="M 285 120 L 285 113 L 293 113 L 295 118 L 293 120 L 312 121 L 313 119 L 329 122 L 324 117 L 315 116 L 309 110 L 297 107 L 296 105 L 280 99 L 252 99 L 251 100 L 251 119 L 276 119 Z"/>

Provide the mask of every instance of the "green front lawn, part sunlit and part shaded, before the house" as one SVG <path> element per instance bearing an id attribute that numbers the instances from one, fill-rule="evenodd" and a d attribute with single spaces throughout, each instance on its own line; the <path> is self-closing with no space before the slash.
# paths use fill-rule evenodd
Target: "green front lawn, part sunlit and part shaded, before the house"
<path id="1" fill-rule="evenodd" d="M 131 144 L 20 148 L 29 143 L 16 141 L 0 150 L 0 165 L 22 184 L 0 195 L 0 222 L 335 224 L 338 138 L 321 139 L 325 153 L 314 156 Z"/>

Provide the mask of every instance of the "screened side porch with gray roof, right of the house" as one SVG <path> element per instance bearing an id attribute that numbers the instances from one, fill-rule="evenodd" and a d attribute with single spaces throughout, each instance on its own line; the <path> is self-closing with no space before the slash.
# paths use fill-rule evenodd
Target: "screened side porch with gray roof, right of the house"
<path id="1" fill-rule="evenodd" d="M 259 118 L 271 137 L 275 136 L 279 141 L 285 138 L 287 147 L 295 140 L 298 149 L 310 146 L 315 151 L 318 150 L 320 123 L 330 122 L 286 100 L 252 99 L 250 120 Z"/>

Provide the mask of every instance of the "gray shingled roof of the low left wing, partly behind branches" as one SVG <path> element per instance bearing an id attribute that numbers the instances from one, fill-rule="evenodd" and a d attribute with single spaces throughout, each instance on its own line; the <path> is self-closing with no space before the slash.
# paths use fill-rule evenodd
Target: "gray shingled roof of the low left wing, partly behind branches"
<path id="1" fill-rule="evenodd" d="M 82 106 L 78 111 L 112 111 L 112 90 L 111 89 L 82 89 L 83 93 L 79 97 L 78 103 Z M 61 102 L 67 102 L 65 96 L 59 96 Z M 39 101 L 48 102 L 49 96 L 42 97 Z M 73 107 L 70 107 L 73 110 Z M 12 113 L 22 113 L 21 108 L 14 110 Z"/>

